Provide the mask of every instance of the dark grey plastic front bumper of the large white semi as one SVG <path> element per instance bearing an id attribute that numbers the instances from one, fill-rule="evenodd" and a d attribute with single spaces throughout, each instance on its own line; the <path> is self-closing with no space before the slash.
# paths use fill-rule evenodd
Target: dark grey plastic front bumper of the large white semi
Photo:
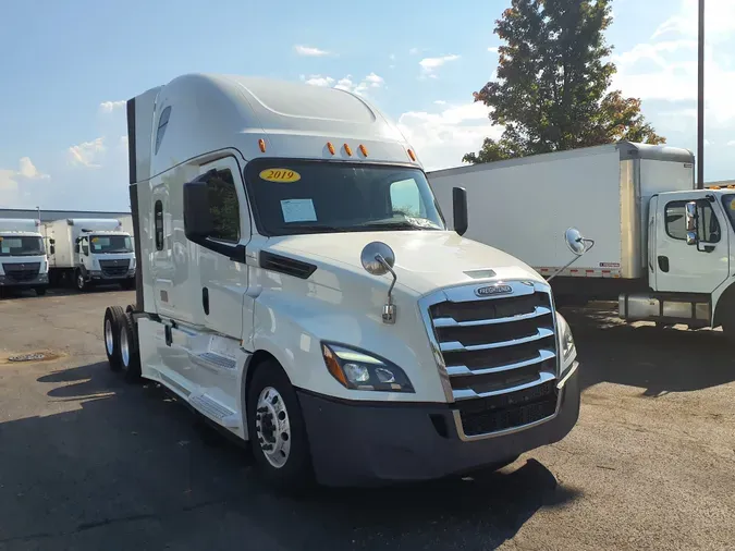
<path id="1" fill-rule="evenodd" d="M 298 400 L 317 480 L 378 486 L 467 473 L 562 440 L 579 417 L 579 369 L 560 393 L 560 408 L 549 420 L 473 441 L 457 432 L 453 404 L 367 405 L 305 391 Z"/>

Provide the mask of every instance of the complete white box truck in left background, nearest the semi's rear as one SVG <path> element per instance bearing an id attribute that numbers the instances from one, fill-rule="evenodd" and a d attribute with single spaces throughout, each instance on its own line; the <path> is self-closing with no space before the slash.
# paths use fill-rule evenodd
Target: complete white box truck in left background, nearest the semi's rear
<path id="1" fill-rule="evenodd" d="M 133 238 L 117 219 L 70 218 L 44 224 L 51 282 L 72 280 L 79 291 L 95 285 L 135 286 Z"/>

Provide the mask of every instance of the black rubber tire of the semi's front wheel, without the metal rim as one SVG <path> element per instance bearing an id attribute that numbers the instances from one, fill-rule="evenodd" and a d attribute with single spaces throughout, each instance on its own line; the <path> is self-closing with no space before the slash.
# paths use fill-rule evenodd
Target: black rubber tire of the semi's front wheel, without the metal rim
<path id="1" fill-rule="evenodd" d="M 289 381 L 283 368 L 275 360 L 266 360 L 256 367 L 256 372 L 247 389 L 247 431 L 250 436 L 253 455 L 256 465 L 264 477 L 280 490 L 291 493 L 299 492 L 313 486 L 314 469 L 311 467 L 311 452 L 309 450 L 306 424 L 298 404 L 298 396 Z M 274 389 L 283 399 L 290 425 L 290 451 L 285 463 L 277 467 L 266 457 L 264 444 L 268 445 L 272 439 L 281 434 L 265 434 L 256 428 L 256 420 L 264 424 L 257 412 L 258 399 L 265 389 Z M 269 418 L 274 420 L 271 415 Z M 278 431 L 277 431 L 278 432 Z M 265 436 L 261 436 L 265 434 Z"/>

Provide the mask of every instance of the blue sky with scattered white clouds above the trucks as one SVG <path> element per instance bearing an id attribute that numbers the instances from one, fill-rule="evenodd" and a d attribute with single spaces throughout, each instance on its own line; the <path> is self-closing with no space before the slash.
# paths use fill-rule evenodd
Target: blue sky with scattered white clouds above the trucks
<path id="1" fill-rule="evenodd" d="M 735 0 L 708 1 L 706 180 L 735 177 Z M 9 0 L 0 19 L 0 207 L 127 209 L 123 100 L 187 72 L 365 94 L 428 169 L 497 136 L 471 93 L 493 75 L 509 0 Z M 614 86 L 673 146 L 696 146 L 696 0 L 614 0 Z"/>

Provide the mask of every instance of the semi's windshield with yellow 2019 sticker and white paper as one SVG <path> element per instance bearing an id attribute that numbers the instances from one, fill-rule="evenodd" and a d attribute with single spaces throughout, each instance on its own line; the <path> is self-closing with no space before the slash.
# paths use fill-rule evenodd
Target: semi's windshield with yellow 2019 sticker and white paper
<path id="1" fill-rule="evenodd" d="M 264 235 L 445 229 L 426 175 L 412 167 L 258 159 L 245 181 Z"/>

